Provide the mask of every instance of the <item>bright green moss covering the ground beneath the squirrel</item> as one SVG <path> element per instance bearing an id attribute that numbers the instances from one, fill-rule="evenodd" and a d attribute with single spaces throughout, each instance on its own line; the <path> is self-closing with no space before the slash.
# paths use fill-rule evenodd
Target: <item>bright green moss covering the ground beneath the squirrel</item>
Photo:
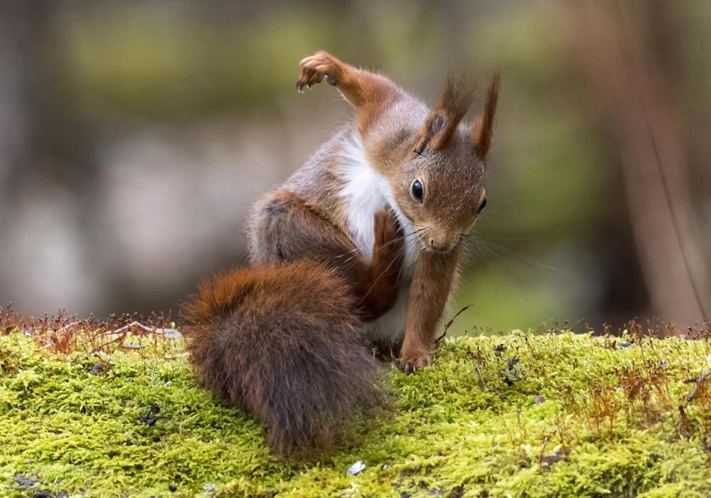
<path id="1" fill-rule="evenodd" d="M 449 339 L 432 368 L 388 373 L 392 416 L 304 463 L 269 455 L 258 423 L 198 388 L 179 341 L 63 355 L 11 333 L 0 494 L 709 496 L 711 389 L 687 403 L 684 380 L 710 353 L 708 339 Z"/>

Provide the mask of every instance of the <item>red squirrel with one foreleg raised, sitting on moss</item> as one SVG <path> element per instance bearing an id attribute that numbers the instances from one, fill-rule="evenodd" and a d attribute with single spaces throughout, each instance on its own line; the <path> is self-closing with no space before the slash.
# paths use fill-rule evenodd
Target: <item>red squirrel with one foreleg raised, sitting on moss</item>
<path id="1" fill-rule="evenodd" d="M 498 73 L 483 112 L 449 75 L 437 104 L 320 51 L 298 90 L 335 86 L 355 122 L 250 215 L 250 267 L 205 282 L 184 307 L 198 381 L 268 427 L 277 455 L 331 450 L 385 403 L 377 344 L 398 368 L 430 364 L 437 324 L 486 206 Z"/>

